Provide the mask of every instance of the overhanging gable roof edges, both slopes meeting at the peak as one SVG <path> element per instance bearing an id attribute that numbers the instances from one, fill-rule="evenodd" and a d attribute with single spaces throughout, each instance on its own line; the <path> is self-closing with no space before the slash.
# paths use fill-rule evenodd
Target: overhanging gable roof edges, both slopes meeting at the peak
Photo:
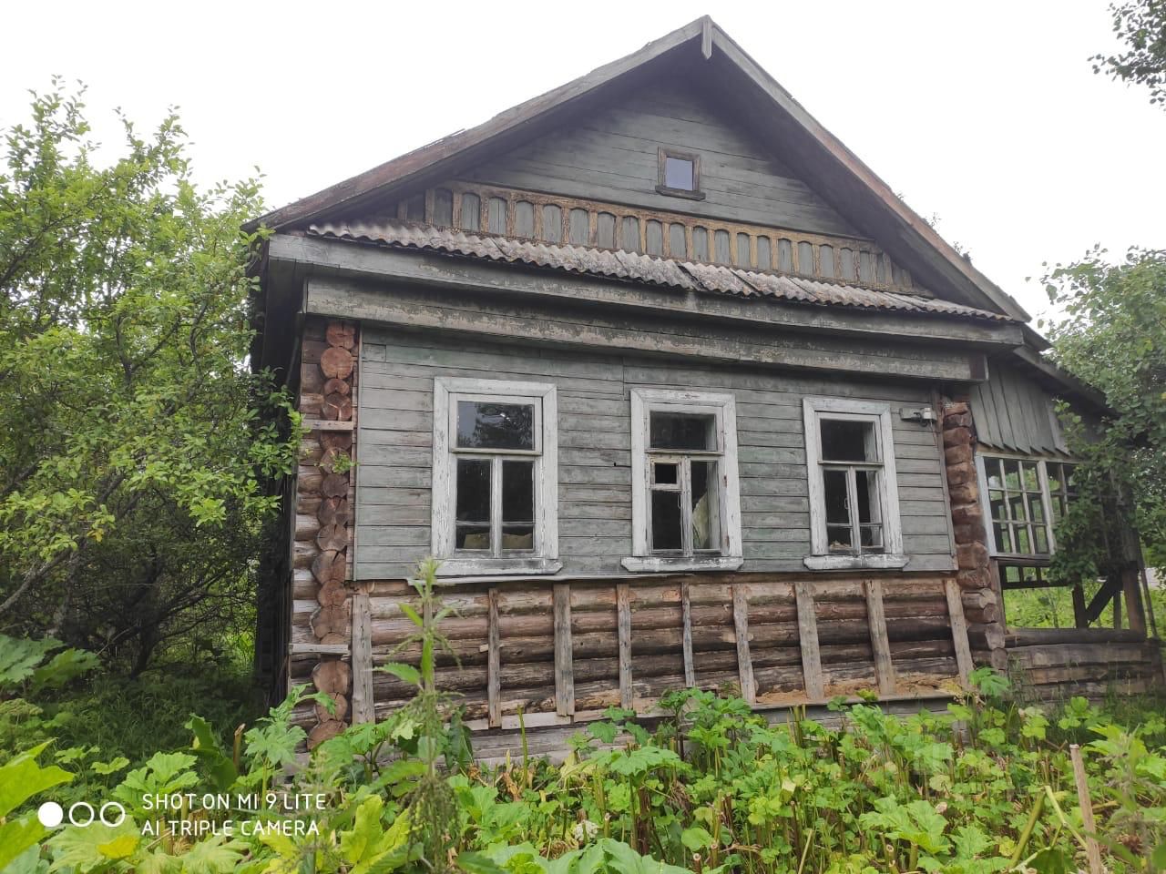
<path id="1" fill-rule="evenodd" d="M 1026 322 L 1030 316 L 949 246 L 850 149 L 814 119 L 710 17 L 704 16 L 484 124 L 353 176 L 248 223 L 275 231 L 353 211 L 407 186 L 455 174 L 562 124 L 660 71 L 703 64 L 701 80 L 763 141 L 788 146 L 785 160 L 925 286 L 958 303 Z"/>

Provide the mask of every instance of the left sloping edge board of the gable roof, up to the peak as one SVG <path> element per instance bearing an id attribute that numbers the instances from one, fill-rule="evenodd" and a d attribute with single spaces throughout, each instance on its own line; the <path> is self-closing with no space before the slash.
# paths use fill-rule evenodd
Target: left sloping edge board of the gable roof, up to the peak
<path id="1" fill-rule="evenodd" d="M 302 197 L 247 221 L 244 228 L 253 231 L 266 226 L 279 231 L 289 224 L 302 223 L 325 214 L 328 211 L 351 206 L 386 185 L 400 183 L 423 171 L 435 170 L 442 161 L 463 156 L 468 149 L 478 148 L 497 138 L 513 134 L 519 125 L 539 119 L 549 111 L 562 110 L 612 84 L 624 73 L 639 69 L 693 40 L 700 40 L 705 28 L 705 20 L 711 22 L 707 15 L 690 21 L 656 40 L 652 40 L 628 55 L 597 66 L 590 72 L 517 106 L 503 110 L 475 127 L 434 140 L 427 146 L 398 155 L 370 170 Z"/>

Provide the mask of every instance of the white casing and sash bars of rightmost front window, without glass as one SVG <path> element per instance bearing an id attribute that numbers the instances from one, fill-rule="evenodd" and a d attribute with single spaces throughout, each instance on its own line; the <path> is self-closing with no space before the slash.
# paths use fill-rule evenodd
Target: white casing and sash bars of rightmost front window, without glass
<path id="1" fill-rule="evenodd" d="M 902 527 L 899 517 L 899 488 L 894 465 L 894 440 L 890 404 L 874 401 L 851 401 L 841 397 L 805 397 L 802 415 L 806 430 L 806 463 L 809 473 L 810 555 L 805 565 L 810 570 L 845 570 L 861 568 L 902 568 Z M 822 422 L 857 422 L 869 428 L 866 460 L 838 460 L 823 457 Z M 831 548 L 827 519 L 828 471 L 841 472 L 847 482 L 850 544 Z M 857 509 L 857 477 L 871 472 L 876 481 L 871 495 L 877 521 L 862 523 Z M 879 547 L 863 548 L 862 528 L 878 527 Z"/>

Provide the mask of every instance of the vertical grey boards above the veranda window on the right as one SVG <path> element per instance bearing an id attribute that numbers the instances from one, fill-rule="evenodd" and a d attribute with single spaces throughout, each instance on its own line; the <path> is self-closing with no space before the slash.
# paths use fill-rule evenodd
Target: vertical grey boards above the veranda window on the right
<path id="1" fill-rule="evenodd" d="M 1055 399 L 1014 367 L 992 361 L 989 380 L 971 388 L 976 438 L 1012 452 L 1069 451 L 1056 421 Z"/>

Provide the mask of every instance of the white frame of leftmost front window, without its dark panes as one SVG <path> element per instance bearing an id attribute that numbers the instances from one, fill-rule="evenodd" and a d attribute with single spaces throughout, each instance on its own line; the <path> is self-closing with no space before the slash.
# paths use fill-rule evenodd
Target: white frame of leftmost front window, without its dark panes
<path id="1" fill-rule="evenodd" d="M 515 452 L 515 458 L 534 460 L 534 551 L 527 556 L 457 555 L 455 522 L 457 515 L 457 402 L 486 401 L 514 403 L 529 401 L 535 406 L 535 451 Z M 559 406 L 555 387 L 547 382 L 512 382 L 506 380 L 434 379 L 434 456 L 433 513 L 430 541 L 434 557 L 441 564 L 441 577 L 471 577 L 526 573 L 556 573 L 559 561 Z M 506 454 L 497 450 L 464 450 L 466 454 Z M 500 500 L 497 478 L 493 491 Z"/>

